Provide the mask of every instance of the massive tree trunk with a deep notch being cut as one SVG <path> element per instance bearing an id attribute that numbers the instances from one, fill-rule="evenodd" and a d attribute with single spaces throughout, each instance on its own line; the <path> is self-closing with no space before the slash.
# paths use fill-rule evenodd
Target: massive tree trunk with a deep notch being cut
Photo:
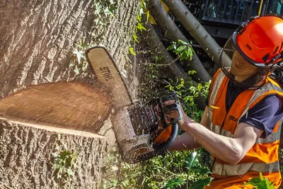
<path id="1" fill-rule="evenodd" d="M 87 95 L 96 90 L 98 85 L 96 76 L 91 67 L 79 69 L 79 71 L 76 69 L 82 67 L 83 63 L 74 62 L 75 43 L 83 41 L 91 45 L 105 45 L 117 62 L 117 66 L 123 69 L 129 42 L 132 40 L 132 31 L 137 22 L 140 1 L 117 1 L 117 10 L 113 18 L 95 13 L 96 6 L 93 4 L 100 4 L 100 1 L 22 0 L 0 3 L 0 102 L 8 105 L 6 110 L 1 112 L 2 121 L 0 122 L 2 143 L 0 181 L 4 186 L 59 188 L 58 182 L 52 177 L 54 170 L 51 154 L 56 150 L 55 144 L 59 142 L 57 132 L 63 132 L 61 143 L 65 144 L 64 148 L 76 150 L 79 153 L 78 166 L 74 168 L 75 175 L 71 185 L 74 188 L 100 188 L 98 185 L 107 139 L 95 133 L 103 130 L 100 128 L 106 115 L 110 113 L 107 105 L 104 111 L 106 117 L 102 118 L 103 121 L 87 127 L 87 130 L 83 128 L 81 131 L 74 128 L 66 130 L 45 127 L 44 121 L 37 125 L 36 118 L 32 118 L 35 120 L 34 125 L 24 122 L 28 118 L 21 119 L 21 124 L 16 122 L 18 120 L 7 122 L 9 118 L 5 118 L 7 113 L 15 114 L 10 109 L 14 107 L 11 100 L 15 96 L 21 96 L 18 105 L 30 110 L 30 113 L 36 113 L 36 110 L 42 110 L 42 113 L 45 113 L 44 108 L 33 108 L 39 105 L 38 102 L 49 102 L 45 103 L 49 105 L 53 100 L 59 104 L 64 96 L 54 98 L 60 93 L 55 95 L 52 87 L 44 88 L 45 85 L 52 86 L 54 82 L 62 84 L 60 88 L 64 89 L 66 96 L 76 93 L 76 99 L 79 99 L 81 95 L 83 99 L 91 101 L 91 96 Z M 98 21 L 98 18 L 102 22 L 97 24 L 95 21 Z M 83 88 L 86 87 L 86 93 L 76 91 L 78 88 L 65 87 L 64 84 L 69 81 Z M 40 91 L 33 87 L 39 84 L 40 87 L 43 86 Z M 26 105 L 24 100 L 27 93 L 25 91 L 21 93 L 21 90 L 25 88 L 29 90 L 29 86 L 35 92 L 48 95 L 40 96 L 40 99 L 27 97 L 28 105 Z M 101 93 L 105 93 L 105 90 Z M 48 101 L 46 101 L 47 98 Z M 93 99 L 91 103 L 96 103 L 96 100 Z M 72 108 L 81 105 L 81 101 L 69 101 L 66 105 L 70 103 Z M 87 109 L 86 106 L 82 108 L 85 108 L 83 111 Z M 13 110 L 16 111 L 15 108 Z M 25 114 L 24 109 L 21 110 L 19 111 Z M 59 112 L 60 109 L 56 111 Z M 88 113 L 90 115 L 84 119 L 91 118 L 91 111 Z M 77 117 L 80 116 L 77 115 Z M 99 116 L 93 117 L 95 118 L 92 119 L 100 120 Z M 76 123 L 83 124 L 83 122 Z"/>

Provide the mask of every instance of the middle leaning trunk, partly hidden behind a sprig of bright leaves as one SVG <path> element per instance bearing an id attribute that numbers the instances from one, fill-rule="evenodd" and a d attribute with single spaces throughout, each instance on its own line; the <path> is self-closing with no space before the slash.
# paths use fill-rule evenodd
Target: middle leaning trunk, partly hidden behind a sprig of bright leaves
<path id="1" fill-rule="evenodd" d="M 168 16 L 168 13 L 166 13 L 159 0 L 149 0 L 149 12 L 151 13 L 151 16 L 154 17 L 156 23 L 162 28 L 166 38 L 175 42 L 178 42 L 178 40 L 188 42 L 170 16 Z M 183 62 L 187 63 L 191 70 L 197 71 L 197 79 L 200 79 L 201 81 L 209 81 L 211 79 L 211 76 L 209 76 L 204 69 L 200 59 L 195 53 L 193 53 L 192 60 L 187 59 L 183 60 Z"/>

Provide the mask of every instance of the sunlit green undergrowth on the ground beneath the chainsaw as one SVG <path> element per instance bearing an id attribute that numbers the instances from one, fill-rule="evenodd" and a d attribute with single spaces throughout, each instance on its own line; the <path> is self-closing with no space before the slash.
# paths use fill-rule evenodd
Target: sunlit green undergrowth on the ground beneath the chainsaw
<path id="1" fill-rule="evenodd" d="M 103 188 L 175 188 L 185 183 L 194 186 L 193 182 L 196 181 L 204 185 L 209 178 L 209 169 L 204 171 L 200 165 L 200 154 L 192 151 L 168 152 L 140 164 L 122 162 L 120 155 L 112 152 L 106 163 L 108 166 L 105 172 L 108 173 L 113 165 L 119 165 L 120 170 L 115 176 L 120 177 L 104 180 Z"/>

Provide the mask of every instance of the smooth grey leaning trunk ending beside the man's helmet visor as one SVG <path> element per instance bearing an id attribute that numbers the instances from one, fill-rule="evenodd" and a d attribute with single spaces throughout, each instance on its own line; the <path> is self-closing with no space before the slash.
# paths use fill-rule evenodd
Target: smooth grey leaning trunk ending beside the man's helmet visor
<path id="1" fill-rule="evenodd" d="M 164 0 L 164 3 L 170 8 L 170 11 L 179 18 L 187 32 L 195 38 L 202 49 L 207 52 L 207 55 L 209 55 L 212 61 L 214 61 L 218 67 L 221 67 L 221 64 L 219 63 L 221 47 L 215 42 L 214 38 L 207 33 L 195 16 L 190 13 L 183 2 L 180 0 Z M 224 67 L 229 67 L 231 64 L 231 59 L 226 56 L 225 53 L 222 53 L 221 61 L 224 64 Z"/>

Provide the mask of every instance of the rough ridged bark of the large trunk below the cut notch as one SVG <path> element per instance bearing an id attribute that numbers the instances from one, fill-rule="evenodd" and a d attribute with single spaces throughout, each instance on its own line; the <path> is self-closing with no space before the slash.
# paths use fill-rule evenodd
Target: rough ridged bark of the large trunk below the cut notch
<path id="1" fill-rule="evenodd" d="M 0 181 L 13 188 L 59 188 L 53 178 L 56 144 L 79 153 L 74 188 L 99 188 L 105 139 L 79 137 L 0 121 Z M 1 188 L 3 185 L 1 186 Z"/>

